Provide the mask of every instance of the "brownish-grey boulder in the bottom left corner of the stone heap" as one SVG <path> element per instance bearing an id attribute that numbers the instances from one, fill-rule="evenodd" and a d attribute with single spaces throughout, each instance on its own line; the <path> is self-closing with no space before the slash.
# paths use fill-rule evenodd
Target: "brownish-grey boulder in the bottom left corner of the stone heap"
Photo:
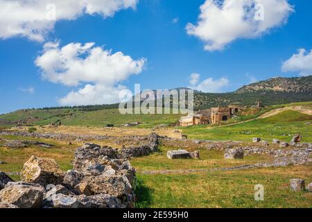
<path id="1" fill-rule="evenodd" d="M 2 203 L 16 205 L 20 208 L 41 207 L 44 187 L 26 182 L 8 182 L 0 191 Z"/>

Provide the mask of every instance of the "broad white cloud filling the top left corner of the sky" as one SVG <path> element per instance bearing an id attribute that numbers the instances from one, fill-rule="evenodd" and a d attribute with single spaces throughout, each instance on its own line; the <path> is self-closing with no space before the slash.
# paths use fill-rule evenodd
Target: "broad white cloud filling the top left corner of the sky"
<path id="1" fill-rule="evenodd" d="M 0 39 L 22 36 L 43 41 L 55 22 L 82 15 L 112 17 L 139 0 L 0 0 Z M 55 16 L 54 16 L 55 15 Z"/>

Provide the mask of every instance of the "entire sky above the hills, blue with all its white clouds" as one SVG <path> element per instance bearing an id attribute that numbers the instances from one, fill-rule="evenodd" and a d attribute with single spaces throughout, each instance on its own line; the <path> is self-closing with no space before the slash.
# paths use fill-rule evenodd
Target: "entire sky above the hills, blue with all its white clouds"
<path id="1" fill-rule="evenodd" d="M 312 1 L 0 0 L 0 113 L 312 74 Z"/>

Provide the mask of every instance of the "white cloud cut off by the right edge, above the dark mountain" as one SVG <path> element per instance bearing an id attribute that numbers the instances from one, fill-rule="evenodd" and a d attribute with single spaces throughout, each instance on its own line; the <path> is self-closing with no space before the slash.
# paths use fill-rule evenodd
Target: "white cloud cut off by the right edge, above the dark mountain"
<path id="1" fill-rule="evenodd" d="M 291 58 L 283 62 L 281 71 L 296 71 L 300 76 L 310 76 L 312 74 L 312 50 L 298 49 L 298 52 L 293 54 Z"/>

